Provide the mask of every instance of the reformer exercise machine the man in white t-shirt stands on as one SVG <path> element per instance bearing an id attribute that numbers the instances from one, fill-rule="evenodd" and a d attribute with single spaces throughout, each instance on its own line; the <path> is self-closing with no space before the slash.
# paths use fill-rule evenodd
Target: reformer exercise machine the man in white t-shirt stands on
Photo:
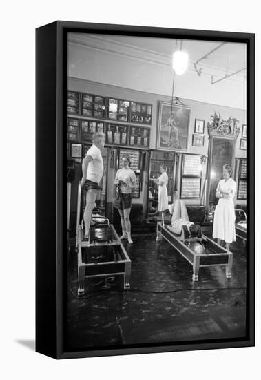
<path id="1" fill-rule="evenodd" d="M 85 294 L 85 278 L 123 276 L 123 287 L 129 289 L 131 260 L 108 218 L 92 211 L 89 239 L 84 239 L 83 191 L 78 185 L 76 252 L 78 263 L 78 295 Z"/>

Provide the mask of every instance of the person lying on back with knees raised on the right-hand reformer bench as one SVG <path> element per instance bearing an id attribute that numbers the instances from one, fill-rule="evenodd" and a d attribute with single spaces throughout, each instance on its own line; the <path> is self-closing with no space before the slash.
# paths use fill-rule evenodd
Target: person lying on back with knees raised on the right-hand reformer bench
<path id="1" fill-rule="evenodd" d="M 174 234 L 182 235 L 182 238 L 201 238 L 200 225 L 194 225 L 194 222 L 189 222 L 187 208 L 182 200 L 175 200 L 172 205 L 169 205 L 169 213 L 172 215 L 171 226 L 167 226 L 170 231 L 174 232 Z"/>

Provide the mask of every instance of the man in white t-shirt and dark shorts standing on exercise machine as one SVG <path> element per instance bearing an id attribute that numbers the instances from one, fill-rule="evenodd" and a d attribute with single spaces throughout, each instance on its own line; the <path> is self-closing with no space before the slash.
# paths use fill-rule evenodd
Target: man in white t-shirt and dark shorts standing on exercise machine
<path id="1" fill-rule="evenodd" d="M 92 219 L 92 210 L 95 206 L 96 196 L 101 189 L 98 184 L 103 178 L 103 157 L 101 150 L 104 148 L 105 135 L 97 132 L 92 135 L 92 146 L 83 158 L 83 178 L 81 186 L 86 193 L 86 205 L 83 213 L 85 224 L 85 238 L 89 238 L 89 229 Z"/>

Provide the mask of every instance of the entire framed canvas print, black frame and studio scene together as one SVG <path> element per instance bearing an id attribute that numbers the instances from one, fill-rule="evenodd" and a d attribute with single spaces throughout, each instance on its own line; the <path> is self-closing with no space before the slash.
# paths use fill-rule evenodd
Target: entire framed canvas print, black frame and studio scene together
<path id="1" fill-rule="evenodd" d="M 36 29 L 37 352 L 255 344 L 254 43 Z"/>

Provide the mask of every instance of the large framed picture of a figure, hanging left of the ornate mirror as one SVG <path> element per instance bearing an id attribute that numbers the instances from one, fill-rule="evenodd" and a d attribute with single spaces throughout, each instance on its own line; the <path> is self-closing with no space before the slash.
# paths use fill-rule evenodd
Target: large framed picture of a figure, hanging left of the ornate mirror
<path id="1" fill-rule="evenodd" d="M 161 150 L 187 150 L 190 120 L 189 106 L 160 102 L 157 148 Z"/>

